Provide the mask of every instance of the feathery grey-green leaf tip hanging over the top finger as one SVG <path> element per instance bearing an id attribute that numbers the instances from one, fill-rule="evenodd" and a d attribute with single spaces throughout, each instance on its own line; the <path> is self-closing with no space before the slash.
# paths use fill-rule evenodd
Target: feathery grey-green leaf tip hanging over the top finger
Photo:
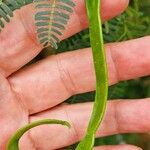
<path id="1" fill-rule="evenodd" d="M 51 45 L 57 49 L 75 4 L 71 0 L 34 0 L 34 3 L 39 42 L 44 47 Z"/>

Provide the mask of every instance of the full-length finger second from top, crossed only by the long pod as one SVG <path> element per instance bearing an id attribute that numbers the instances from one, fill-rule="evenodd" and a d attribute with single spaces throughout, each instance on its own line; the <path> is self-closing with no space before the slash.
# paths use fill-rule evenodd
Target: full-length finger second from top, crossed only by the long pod
<path id="1" fill-rule="evenodd" d="M 109 84 L 150 75 L 150 37 L 106 46 Z M 93 91 L 90 49 L 51 56 L 9 78 L 29 113 L 53 107 L 74 94 Z"/>

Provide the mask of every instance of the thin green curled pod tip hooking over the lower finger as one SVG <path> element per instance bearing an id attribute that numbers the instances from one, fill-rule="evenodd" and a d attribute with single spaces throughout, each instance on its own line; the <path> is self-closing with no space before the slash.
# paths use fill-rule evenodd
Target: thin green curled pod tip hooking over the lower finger
<path id="1" fill-rule="evenodd" d="M 19 140 L 23 136 L 23 134 L 34 127 L 37 127 L 39 125 L 45 125 L 45 124 L 60 124 L 60 125 L 70 127 L 70 124 L 68 122 L 62 121 L 62 120 L 45 119 L 45 120 L 35 121 L 19 129 L 12 136 L 12 138 L 10 139 L 8 143 L 7 150 L 19 150 Z"/>

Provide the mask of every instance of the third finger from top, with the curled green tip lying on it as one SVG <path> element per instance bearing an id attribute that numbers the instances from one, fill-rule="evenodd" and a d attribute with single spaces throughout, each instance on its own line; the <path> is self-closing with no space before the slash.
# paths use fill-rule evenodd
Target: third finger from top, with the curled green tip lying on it
<path id="1" fill-rule="evenodd" d="M 34 116 L 30 121 L 43 118 L 67 120 L 71 129 L 62 126 L 40 126 L 30 131 L 32 144 L 39 149 L 59 149 L 80 141 L 87 129 L 92 103 L 62 105 Z M 106 114 L 97 137 L 118 133 L 150 131 L 150 98 L 108 102 Z M 22 146 L 26 141 L 22 141 Z"/>

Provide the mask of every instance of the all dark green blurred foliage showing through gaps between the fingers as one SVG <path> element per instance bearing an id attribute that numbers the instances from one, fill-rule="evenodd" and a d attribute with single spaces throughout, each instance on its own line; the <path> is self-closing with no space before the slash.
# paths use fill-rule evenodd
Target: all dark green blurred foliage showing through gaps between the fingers
<path id="1" fill-rule="evenodd" d="M 103 24 L 105 43 L 119 42 L 150 35 L 150 0 L 130 0 L 126 12 Z M 89 47 L 88 29 L 62 41 L 58 50 L 47 48 L 42 51 L 37 61 L 50 54 Z M 144 52 L 144 50 L 143 50 Z M 109 87 L 109 100 L 135 99 L 150 97 L 150 77 L 120 82 Z M 67 100 L 68 103 L 81 103 L 94 100 L 94 92 L 75 95 Z M 127 112 L 128 113 L 128 112 Z M 95 145 L 134 144 L 150 150 L 150 134 L 124 134 L 96 139 Z M 66 148 L 75 149 L 75 145 Z"/>

